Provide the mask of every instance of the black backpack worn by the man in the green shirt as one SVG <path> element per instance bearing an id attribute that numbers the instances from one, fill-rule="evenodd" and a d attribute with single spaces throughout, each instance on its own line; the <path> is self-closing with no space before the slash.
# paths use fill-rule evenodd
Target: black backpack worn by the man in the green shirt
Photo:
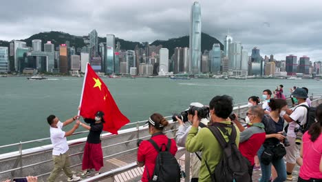
<path id="1" fill-rule="evenodd" d="M 248 182 L 250 181 L 250 174 L 248 169 L 250 162 L 239 152 L 235 139 L 237 136 L 236 128 L 232 124 L 213 123 L 208 126 L 213 133 L 218 143 L 222 146 L 222 159 L 217 164 L 215 171 L 211 173 L 209 165 L 206 163 L 208 172 L 211 174 L 211 181 L 213 182 Z M 231 134 L 228 134 L 226 128 L 231 128 Z M 222 130 L 224 135 L 228 136 L 229 141 L 226 142 L 224 136 L 219 131 Z M 217 149 L 214 149 L 217 150 Z M 206 160 L 205 160 L 206 162 Z"/>

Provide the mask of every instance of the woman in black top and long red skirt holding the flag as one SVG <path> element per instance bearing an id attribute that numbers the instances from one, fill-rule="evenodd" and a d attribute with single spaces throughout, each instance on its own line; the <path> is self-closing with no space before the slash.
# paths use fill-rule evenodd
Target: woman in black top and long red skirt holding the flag
<path id="1" fill-rule="evenodd" d="M 81 123 L 81 121 L 77 121 L 83 128 L 89 130 L 89 134 L 87 136 L 87 141 L 84 148 L 83 154 L 83 163 L 82 170 L 83 173 L 81 176 L 87 176 L 91 174 L 91 169 L 95 169 L 95 175 L 100 174 L 100 168 L 103 167 L 103 151 L 102 145 L 100 143 L 100 134 L 103 130 L 103 123 L 105 123 L 103 119 L 104 113 L 101 111 L 96 112 L 95 119 L 84 118 L 86 123 Z"/>

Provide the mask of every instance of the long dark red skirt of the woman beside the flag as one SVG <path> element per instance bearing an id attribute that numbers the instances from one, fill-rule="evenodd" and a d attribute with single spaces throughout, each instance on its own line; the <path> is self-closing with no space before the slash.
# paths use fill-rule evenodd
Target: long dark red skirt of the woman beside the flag
<path id="1" fill-rule="evenodd" d="M 100 143 L 86 142 L 83 155 L 82 170 L 95 169 L 99 171 L 103 167 L 103 151 Z"/>

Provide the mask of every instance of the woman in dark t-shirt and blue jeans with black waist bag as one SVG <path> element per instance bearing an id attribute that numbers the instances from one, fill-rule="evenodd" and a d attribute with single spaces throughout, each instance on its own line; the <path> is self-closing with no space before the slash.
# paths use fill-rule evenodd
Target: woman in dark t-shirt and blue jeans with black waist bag
<path id="1" fill-rule="evenodd" d="M 277 171 L 277 177 L 275 182 L 281 182 L 286 180 L 286 165 L 284 163 L 283 156 L 278 156 L 274 151 L 283 150 L 286 152 L 281 141 L 286 137 L 283 136 L 284 119 L 280 117 L 281 110 L 284 110 L 287 106 L 286 100 L 283 99 L 270 99 L 268 103 L 270 106 L 270 114 L 265 114 L 262 123 L 265 125 L 266 140 L 261 145 L 257 156 L 259 156 L 259 162 L 261 163 L 261 179 L 260 182 L 270 181 L 271 165 L 274 165 Z M 272 157 L 269 159 L 266 154 L 270 154 Z M 268 155 L 268 156 L 270 156 Z"/>

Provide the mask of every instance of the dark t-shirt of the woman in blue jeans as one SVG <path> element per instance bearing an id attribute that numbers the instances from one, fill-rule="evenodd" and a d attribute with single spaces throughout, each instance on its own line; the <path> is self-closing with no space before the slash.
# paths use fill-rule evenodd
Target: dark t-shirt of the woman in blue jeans
<path id="1" fill-rule="evenodd" d="M 274 134 L 283 131 L 284 119 L 281 117 L 279 117 L 278 122 L 275 122 L 274 120 L 272 120 L 269 114 L 265 114 L 261 122 L 265 125 L 266 134 Z M 279 139 L 275 137 L 266 139 L 264 141 L 264 145 L 277 145 L 278 143 Z"/>

